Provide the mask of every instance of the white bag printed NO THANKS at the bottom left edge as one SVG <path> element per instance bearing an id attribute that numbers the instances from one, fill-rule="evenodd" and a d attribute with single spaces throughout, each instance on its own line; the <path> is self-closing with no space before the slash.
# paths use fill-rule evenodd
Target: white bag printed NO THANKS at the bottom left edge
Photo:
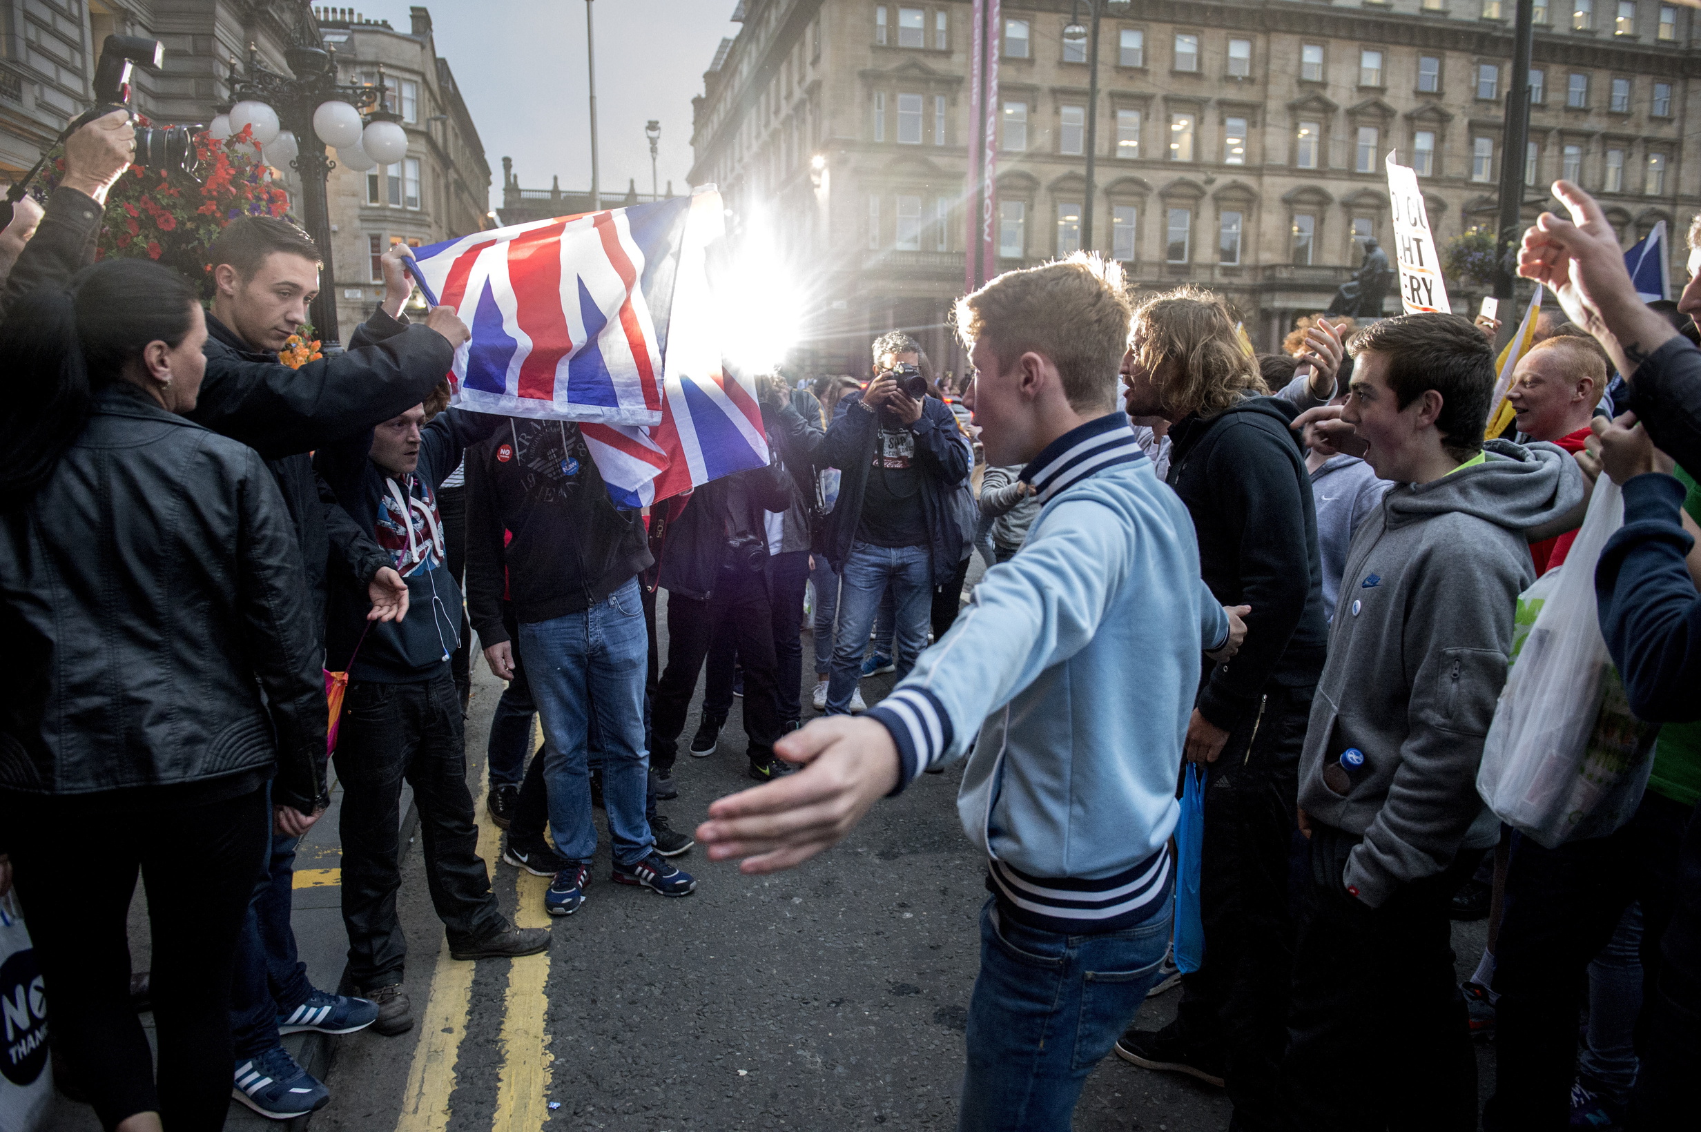
<path id="1" fill-rule="evenodd" d="M 0 1132 L 34 1132 L 53 1103 L 48 998 L 15 899 L 0 896 Z"/>

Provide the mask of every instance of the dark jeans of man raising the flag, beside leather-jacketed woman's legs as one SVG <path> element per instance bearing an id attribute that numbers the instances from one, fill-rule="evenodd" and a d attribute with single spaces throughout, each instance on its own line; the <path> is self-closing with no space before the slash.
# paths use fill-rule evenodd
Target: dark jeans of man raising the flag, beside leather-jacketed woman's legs
<path id="1" fill-rule="evenodd" d="M 313 994 L 308 965 L 296 955 L 296 931 L 289 925 L 301 838 L 286 838 L 276 829 L 269 833 L 267 862 L 236 943 L 236 979 L 230 1001 L 236 1061 L 277 1045 L 277 1015 L 287 1015 Z"/>

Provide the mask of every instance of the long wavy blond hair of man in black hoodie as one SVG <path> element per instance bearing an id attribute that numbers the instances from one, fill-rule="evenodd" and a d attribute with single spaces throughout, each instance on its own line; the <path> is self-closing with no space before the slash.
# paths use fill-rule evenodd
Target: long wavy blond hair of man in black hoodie
<path id="1" fill-rule="evenodd" d="M 1135 311 L 1140 343 L 1129 345 L 1148 374 L 1174 359 L 1175 381 L 1158 389 L 1165 413 L 1198 410 L 1216 416 L 1243 396 L 1269 393 L 1259 364 L 1235 331 L 1235 316 L 1220 296 L 1203 287 L 1175 287 L 1152 296 Z"/>

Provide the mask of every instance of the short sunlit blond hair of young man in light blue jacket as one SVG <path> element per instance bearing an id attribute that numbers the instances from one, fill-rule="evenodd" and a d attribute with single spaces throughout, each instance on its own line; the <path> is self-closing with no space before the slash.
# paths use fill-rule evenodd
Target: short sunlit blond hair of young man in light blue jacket
<path id="1" fill-rule="evenodd" d="M 1034 352 L 1051 359 L 1072 408 L 1116 403 L 1131 304 L 1123 265 L 1097 253 L 1005 272 L 956 301 L 964 350 L 983 342 L 1000 365 Z"/>

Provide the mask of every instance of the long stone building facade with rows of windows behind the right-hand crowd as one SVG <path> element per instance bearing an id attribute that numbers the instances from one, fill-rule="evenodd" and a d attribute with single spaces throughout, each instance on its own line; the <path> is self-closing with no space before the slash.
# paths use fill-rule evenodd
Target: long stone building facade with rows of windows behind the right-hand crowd
<path id="1" fill-rule="evenodd" d="M 1084 10 L 1087 5 L 1080 5 Z M 1260 348 L 1385 238 L 1383 156 L 1417 168 L 1437 243 L 1495 223 L 1512 0 L 1101 3 L 1097 136 L 1070 0 L 1004 0 L 998 267 L 1092 246 L 1140 287 L 1226 294 Z M 917 331 L 961 367 L 970 141 L 966 0 L 743 0 L 694 100 L 692 184 L 771 223 L 810 294 L 799 369 L 866 367 Z M 1701 59 L 1687 7 L 1536 0 L 1526 214 L 1562 175 L 1626 245 L 1701 211 Z M 1094 146 L 1094 229 L 1082 233 Z M 1681 240 L 1674 280 L 1682 279 Z M 1471 297 L 1449 287 L 1454 304 Z M 1390 313 L 1397 299 L 1390 297 Z"/>

